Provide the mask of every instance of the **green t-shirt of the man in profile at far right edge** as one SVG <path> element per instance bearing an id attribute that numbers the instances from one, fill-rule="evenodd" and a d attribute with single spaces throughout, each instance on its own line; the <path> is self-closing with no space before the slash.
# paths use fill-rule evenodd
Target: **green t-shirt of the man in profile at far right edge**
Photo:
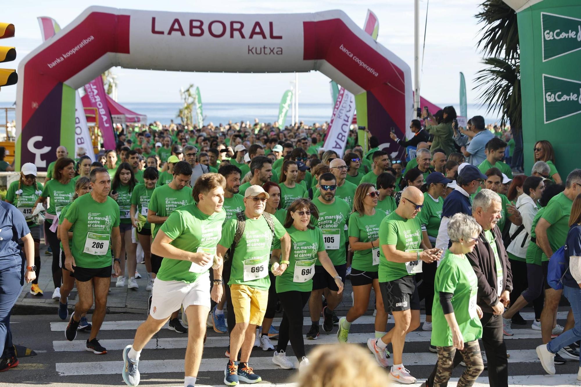
<path id="1" fill-rule="evenodd" d="M 543 216 L 541 216 L 541 218 L 551 224 L 547 228 L 547 238 L 553 252 L 565 244 L 569 233 L 569 216 L 571 215 L 572 206 L 573 200 L 567 198 L 565 193 L 561 192 L 549 200 Z M 547 260 L 545 253 L 543 253 L 543 260 Z"/>

